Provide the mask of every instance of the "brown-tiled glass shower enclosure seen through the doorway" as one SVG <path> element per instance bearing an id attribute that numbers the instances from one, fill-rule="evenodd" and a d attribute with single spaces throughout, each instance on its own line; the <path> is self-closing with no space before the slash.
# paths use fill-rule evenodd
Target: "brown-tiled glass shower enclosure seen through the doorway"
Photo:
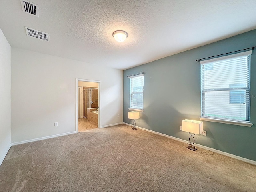
<path id="1" fill-rule="evenodd" d="M 98 108 L 98 88 L 84 87 L 84 117 L 86 118 L 87 108 Z"/>

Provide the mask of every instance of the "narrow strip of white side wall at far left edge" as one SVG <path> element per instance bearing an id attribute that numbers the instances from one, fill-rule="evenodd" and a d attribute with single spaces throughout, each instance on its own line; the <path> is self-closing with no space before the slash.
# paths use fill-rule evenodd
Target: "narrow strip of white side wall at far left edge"
<path id="1" fill-rule="evenodd" d="M 0 34 L 0 165 L 11 146 L 11 47 Z"/>

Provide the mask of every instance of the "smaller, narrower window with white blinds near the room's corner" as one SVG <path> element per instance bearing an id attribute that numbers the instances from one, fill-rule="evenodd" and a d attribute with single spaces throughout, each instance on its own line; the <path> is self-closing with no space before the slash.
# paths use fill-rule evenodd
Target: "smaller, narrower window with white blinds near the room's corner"
<path id="1" fill-rule="evenodd" d="M 129 76 L 130 79 L 130 108 L 143 110 L 144 74 Z"/>

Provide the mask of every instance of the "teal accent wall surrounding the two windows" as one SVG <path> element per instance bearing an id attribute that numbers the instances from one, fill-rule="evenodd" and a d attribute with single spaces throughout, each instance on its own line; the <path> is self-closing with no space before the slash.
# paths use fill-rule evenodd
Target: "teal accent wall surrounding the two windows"
<path id="1" fill-rule="evenodd" d="M 256 30 L 147 64 L 124 70 L 124 122 L 128 119 L 128 75 L 144 74 L 144 112 L 136 126 L 188 140 L 188 132 L 182 132 L 182 120 L 199 120 L 200 62 L 196 59 L 256 46 Z M 256 48 L 251 56 L 251 104 L 252 127 L 204 121 L 207 136 L 200 136 L 197 144 L 256 161 Z"/>

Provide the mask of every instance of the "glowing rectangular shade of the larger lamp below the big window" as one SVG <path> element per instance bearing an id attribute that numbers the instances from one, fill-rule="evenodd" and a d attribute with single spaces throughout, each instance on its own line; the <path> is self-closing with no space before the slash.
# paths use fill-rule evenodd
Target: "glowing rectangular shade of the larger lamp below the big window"
<path id="1" fill-rule="evenodd" d="M 185 119 L 182 121 L 182 131 L 200 135 L 203 132 L 203 122 Z"/>

